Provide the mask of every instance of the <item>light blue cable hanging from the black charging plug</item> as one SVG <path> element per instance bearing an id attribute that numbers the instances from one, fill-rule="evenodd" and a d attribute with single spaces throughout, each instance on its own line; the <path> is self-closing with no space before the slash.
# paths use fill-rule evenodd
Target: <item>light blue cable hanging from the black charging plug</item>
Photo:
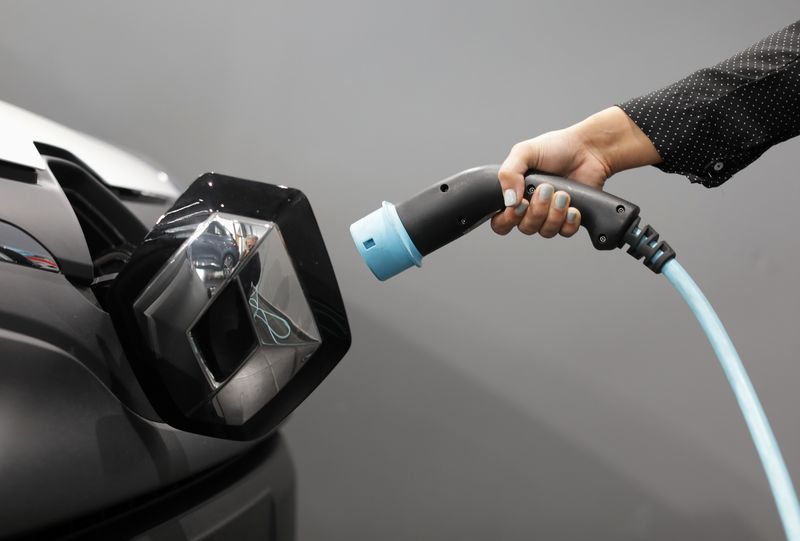
<path id="1" fill-rule="evenodd" d="M 733 347 L 733 342 L 708 299 L 680 263 L 672 259 L 664 265 L 661 272 L 692 309 L 714 353 L 717 354 L 722 370 L 742 410 L 747 428 L 750 429 L 758 456 L 764 465 L 786 538 L 789 541 L 800 541 L 800 505 L 797 502 L 792 478 L 786 469 L 778 442 L 753 389 L 753 384 L 747 376 L 739 354 L 736 353 L 736 348 Z"/>

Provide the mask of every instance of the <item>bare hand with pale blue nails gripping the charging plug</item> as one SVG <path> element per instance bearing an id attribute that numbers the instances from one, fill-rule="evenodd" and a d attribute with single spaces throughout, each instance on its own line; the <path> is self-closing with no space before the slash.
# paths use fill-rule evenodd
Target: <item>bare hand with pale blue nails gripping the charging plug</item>
<path id="1" fill-rule="evenodd" d="M 492 218 L 492 229 L 508 234 L 517 227 L 526 235 L 571 237 L 581 214 L 570 207 L 569 193 L 553 186 L 536 187 L 531 202 L 522 199 L 524 175 L 534 169 L 602 189 L 614 173 L 661 161 L 650 140 L 618 107 L 610 107 L 563 130 L 517 143 L 498 177 L 507 208 Z"/>

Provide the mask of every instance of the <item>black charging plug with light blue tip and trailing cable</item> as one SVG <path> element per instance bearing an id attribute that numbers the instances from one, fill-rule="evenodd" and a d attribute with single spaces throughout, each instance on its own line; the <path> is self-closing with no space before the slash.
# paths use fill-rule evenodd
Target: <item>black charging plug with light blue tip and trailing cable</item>
<path id="1" fill-rule="evenodd" d="M 496 166 L 469 169 L 434 184 L 395 207 L 384 202 L 350 226 L 361 257 L 379 280 L 386 280 L 422 257 L 471 231 L 485 217 L 505 209 Z M 800 541 L 800 505 L 775 435 L 769 426 L 742 361 L 725 328 L 697 284 L 675 261 L 675 251 L 659 239 L 650 225 L 641 225 L 639 207 L 574 181 L 529 171 L 526 193 L 548 182 L 569 191 L 581 209 L 592 244 L 598 250 L 622 248 L 643 260 L 647 268 L 663 273 L 683 296 L 714 349 L 742 410 L 756 451 L 764 466 L 786 537 Z M 391 211 L 391 212 L 389 212 Z M 410 247 L 414 250 L 410 250 Z"/>

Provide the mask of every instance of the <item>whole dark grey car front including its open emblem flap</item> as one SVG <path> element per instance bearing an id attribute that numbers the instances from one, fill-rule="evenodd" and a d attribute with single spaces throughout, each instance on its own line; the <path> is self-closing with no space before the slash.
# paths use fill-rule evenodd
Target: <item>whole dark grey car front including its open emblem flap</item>
<path id="1" fill-rule="evenodd" d="M 0 102 L 1 539 L 293 539 L 278 428 L 349 343 L 302 192 Z"/>

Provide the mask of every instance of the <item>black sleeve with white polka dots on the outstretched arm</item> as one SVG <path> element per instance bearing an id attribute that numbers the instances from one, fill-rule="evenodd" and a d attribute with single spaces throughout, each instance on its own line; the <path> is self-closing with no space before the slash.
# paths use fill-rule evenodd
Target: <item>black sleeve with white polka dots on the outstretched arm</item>
<path id="1" fill-rule="evenodd" d="M 719 186 L 800 134 L 800 21 L 620 107 L 656 147 L 656 167 Z"/>

